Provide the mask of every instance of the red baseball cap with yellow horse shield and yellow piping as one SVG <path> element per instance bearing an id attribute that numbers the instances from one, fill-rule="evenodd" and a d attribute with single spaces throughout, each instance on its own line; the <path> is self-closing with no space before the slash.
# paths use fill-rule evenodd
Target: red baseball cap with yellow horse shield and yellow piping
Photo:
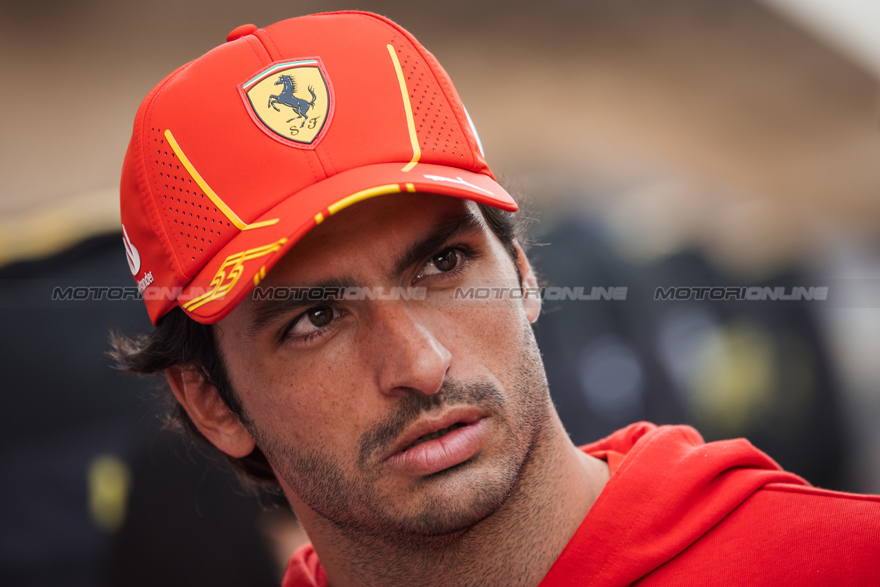
<path id="1" fill-rule="evenodd" d="M 137 111 L 128 266 L 153 324 L 176 305 L 210 324 L 328 216 L 406 192 L 517 209 L 434 55 L 369 12 L 239 26 Z"/>

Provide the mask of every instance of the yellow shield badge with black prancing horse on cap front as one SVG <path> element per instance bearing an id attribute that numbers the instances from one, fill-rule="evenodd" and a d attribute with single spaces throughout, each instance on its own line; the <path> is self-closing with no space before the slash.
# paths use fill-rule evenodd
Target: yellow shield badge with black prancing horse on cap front
<path id="1" fill-rule="evenodd" d="M 253 121 L 283 143 L 312 145 L 333 114 L 333 94 L 317 57 L 272 63 L 240 91 Z"/>

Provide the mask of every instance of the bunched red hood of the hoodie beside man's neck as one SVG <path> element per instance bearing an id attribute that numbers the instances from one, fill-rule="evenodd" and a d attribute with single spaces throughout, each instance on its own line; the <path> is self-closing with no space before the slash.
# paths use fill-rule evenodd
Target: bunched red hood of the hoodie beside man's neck
<path id="1" fill-rule="evenodd" d="M 582 450 L 612 476 L 539 587 L 628 585 L 767 483 L 809 486 L 744 438 L 707 444 L 690 426 L 638 422 Z"/>

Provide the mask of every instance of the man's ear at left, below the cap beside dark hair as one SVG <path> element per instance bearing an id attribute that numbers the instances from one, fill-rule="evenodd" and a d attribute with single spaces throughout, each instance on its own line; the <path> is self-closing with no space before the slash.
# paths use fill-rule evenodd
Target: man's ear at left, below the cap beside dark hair
<path id="1" fill-rule="evenodd" d="M 253 451 L 253 438 L 201 373 L 172 367 L 165 370 L 165 377 L 174 397 L 211 444 L 238 459 Z"/>

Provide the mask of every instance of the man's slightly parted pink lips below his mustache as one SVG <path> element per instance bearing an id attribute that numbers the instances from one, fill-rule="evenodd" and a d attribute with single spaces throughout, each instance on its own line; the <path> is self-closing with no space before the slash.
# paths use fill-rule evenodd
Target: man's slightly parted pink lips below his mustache
<path id="1" fill-rule="evenodd" d="M 459 422 L 465 425 L 406 450 L 426 434 Z M 488 418 L 479 410 L 473 407 L 452 408 L 442 415 L 416 422 L 407 429 L 385 459 L 385 468 L 406 475 L 428 475 L 443 471 L 480 451 L 488 440 L 488 431 Z"/>

